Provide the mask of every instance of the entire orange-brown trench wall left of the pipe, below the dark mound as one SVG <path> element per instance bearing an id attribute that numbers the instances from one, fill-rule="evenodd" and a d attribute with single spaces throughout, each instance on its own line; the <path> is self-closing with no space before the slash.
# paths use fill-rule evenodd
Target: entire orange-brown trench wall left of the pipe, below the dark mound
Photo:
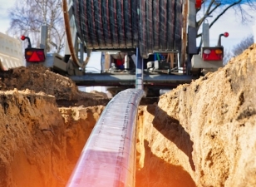
<path id="1" fill-rule="evenodd" d="M 104 106 L 57 108 L 33 91 L 0 92 L 0 186 L 65 186 Z"/>

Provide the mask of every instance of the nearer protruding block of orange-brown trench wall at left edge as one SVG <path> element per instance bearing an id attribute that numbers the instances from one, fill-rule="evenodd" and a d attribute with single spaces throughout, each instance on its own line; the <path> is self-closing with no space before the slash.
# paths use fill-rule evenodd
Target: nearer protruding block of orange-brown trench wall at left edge
<path id="1" fill-rule="evenodd" d="M 47 171 L 59 176 L 65 170 L 62 165 L 51 165 L 57 159 L 52 155 L 59 155 L 60 160 L 65 157 L 60 153 L 62 135 L 57 132 L 64 127 L 63 120 L 57 117 L 53 103 L 54 97 L 36 96 L 29 91 L 1 92 L 1 186 L 56 185 L 44 180 L 50 175 Z"/>

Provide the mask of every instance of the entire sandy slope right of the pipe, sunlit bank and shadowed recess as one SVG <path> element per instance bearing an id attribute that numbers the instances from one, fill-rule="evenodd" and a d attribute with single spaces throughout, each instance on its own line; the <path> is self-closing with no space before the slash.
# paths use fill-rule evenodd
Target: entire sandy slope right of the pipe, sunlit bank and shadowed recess
<path id="1" fill-rule="evenodd" d="M 141 184 L 256 186 L 255 72 L 253 45 L 219 71 L 178 86 L 160 96 L 157 106 L 142 109 L 138 164 L 147 170 L 138 172 Z"/>

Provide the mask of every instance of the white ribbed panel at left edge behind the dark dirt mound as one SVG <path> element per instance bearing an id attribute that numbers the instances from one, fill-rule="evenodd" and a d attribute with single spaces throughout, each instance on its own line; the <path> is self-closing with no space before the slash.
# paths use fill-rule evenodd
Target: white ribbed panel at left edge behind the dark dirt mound
<path id="1" fill-rule="evenodd" d="M 0 32 L 0 68 L 7 71 L 18 66 L 25 66 L 21 41 Z"/>

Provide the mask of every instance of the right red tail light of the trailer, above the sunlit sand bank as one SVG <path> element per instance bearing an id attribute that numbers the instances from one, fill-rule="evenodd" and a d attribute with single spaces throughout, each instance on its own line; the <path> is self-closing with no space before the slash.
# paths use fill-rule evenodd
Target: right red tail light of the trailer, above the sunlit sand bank
<path id="1" fill-rule="evenodd" d="M 202 58 L 204 61 L 222 61 L 223 51 L 223 47 L 202 47 Z"/>

